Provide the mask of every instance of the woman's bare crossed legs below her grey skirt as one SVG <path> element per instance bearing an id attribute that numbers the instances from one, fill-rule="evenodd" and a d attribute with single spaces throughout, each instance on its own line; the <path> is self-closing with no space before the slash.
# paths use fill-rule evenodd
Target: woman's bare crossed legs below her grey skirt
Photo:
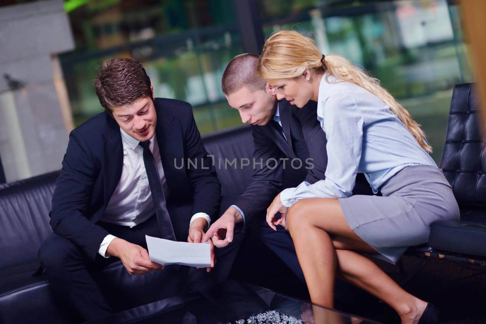
<path id="1" fill-rule="evenodd" d="M 405 292 L 374 262 L 350 251 L 377 253 L 347 225 L 337 199 L 297 202 L 287 214 L 287 225 L 313 303 L 334 306 L 337 271 L 340 278 L 390 305 L 402 323 L 418 322 L 427 303 Z"/>

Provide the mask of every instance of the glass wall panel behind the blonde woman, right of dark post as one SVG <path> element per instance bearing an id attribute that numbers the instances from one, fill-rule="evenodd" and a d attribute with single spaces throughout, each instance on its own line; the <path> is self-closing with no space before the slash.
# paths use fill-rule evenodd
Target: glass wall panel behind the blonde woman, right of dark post
<path id="1" fill-rule="evenodd" d="M 419 122 L 438 163 L 452 88 L 472 81 L 458 6 L 446 0 L 259 0 L 265 36 L 294 29 L 380 79 Z"/>

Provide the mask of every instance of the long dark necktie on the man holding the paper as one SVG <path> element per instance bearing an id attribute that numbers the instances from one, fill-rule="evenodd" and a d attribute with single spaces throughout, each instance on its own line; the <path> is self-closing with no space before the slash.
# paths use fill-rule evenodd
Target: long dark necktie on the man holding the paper
<path id="1" fill-rule="evenodd" d="M 158 226 L 160 227 L 160 233 L 162 234 L 161 237 L 163 239 L 175 241 L 174 228 L 172 227 L 169 211 L 167 210 L 167 203 L 165 202 L 157 164 L 150 151 L 149 143 L 149 141 L 140 142 L 139 146 L 143 147 L 143 163 L 145 164 L 145 171 L 147 172 L 147 178 L 149 180 Z"/>

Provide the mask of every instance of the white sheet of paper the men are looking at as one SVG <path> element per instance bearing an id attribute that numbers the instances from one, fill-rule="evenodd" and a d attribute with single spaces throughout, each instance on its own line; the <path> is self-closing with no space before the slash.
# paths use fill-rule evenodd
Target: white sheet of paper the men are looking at
<path id="1" fill-rule="evenodd" d="M 175 242 L 145 235 L 150 260 L 170 265 L 181 264 L 190 267 L 207 268 L 211 266 L 209 242 L 189 243 Z"/>

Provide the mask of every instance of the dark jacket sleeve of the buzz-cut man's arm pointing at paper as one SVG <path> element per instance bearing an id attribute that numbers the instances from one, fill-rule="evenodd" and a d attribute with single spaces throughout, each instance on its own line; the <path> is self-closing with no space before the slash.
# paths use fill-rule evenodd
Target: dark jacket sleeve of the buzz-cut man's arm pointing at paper
<path id="1" fill-rule="evenodd" d="M 255 164 L 250 183 L 244 193 L 237 199 L 235 205 L 244 213 L 245 225 L 255 220 L 255 216 L 265 211 L 282 188 L 283 152 L 266 135 L 260 126 L 252 126 L 253 132 L 253 161 Z M 275 161 L 270 160 L 275 159 Z M 267 166 L 268 162 L 268 167 Z M 276 167 L 274 168 L 274 165 Z"/>

